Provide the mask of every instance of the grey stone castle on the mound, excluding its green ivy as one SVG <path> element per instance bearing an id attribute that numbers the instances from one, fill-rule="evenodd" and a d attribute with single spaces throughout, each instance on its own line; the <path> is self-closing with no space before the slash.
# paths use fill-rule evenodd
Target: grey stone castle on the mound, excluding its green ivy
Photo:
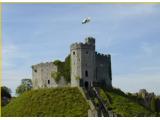
<path id="1" fill-rule="evenodd" d="M 56 82 L 52 73 L 58 72 L 53 62 L 32 66 L 33 88 L 44 87 L 112 87 L 111 56 L 95 51 L 95 38 L 85 38 L 85 43 L 74 43 L 70 46 L 71 81 L 66 82 L 64 76 Z"/>

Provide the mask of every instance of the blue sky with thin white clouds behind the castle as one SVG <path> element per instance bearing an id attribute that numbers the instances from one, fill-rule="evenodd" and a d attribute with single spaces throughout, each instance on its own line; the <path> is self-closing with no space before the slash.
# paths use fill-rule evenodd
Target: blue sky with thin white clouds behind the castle
<path id="1" fill-rule="evenodd" d="M 2 84 L 15 95 L 31 65 L 64 60 L 88 36 L 111 54 L 114 87 L 160 95 L 160 4 L 3 4 Z"/>

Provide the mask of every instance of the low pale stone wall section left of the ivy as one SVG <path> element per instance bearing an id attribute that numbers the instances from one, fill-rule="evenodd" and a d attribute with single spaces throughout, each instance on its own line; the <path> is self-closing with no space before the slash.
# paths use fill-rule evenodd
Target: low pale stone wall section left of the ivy
<path id="1" fill-rule="evenodd" d="M 40 63 L 32 66 L 33 88 L 65 86 L 67 83 L 64 77 L 61 77 L 58 83 L 51 77 L 53 72 L 57 72 L 57 66 L 53 62 Z"/>

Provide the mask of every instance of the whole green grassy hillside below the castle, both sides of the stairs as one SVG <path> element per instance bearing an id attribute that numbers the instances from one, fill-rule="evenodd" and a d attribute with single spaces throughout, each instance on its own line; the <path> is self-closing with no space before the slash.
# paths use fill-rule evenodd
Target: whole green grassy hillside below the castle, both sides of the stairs
<path id="1" fill-rule="evenodd" d="M 158 116 L 118 89 L 99 89 L 99 95 L 117 116 Z M 78 88 L 45 88 L 13 99 L 2 108 L 2 116 L 87 116 L 88 109 Z"/>

